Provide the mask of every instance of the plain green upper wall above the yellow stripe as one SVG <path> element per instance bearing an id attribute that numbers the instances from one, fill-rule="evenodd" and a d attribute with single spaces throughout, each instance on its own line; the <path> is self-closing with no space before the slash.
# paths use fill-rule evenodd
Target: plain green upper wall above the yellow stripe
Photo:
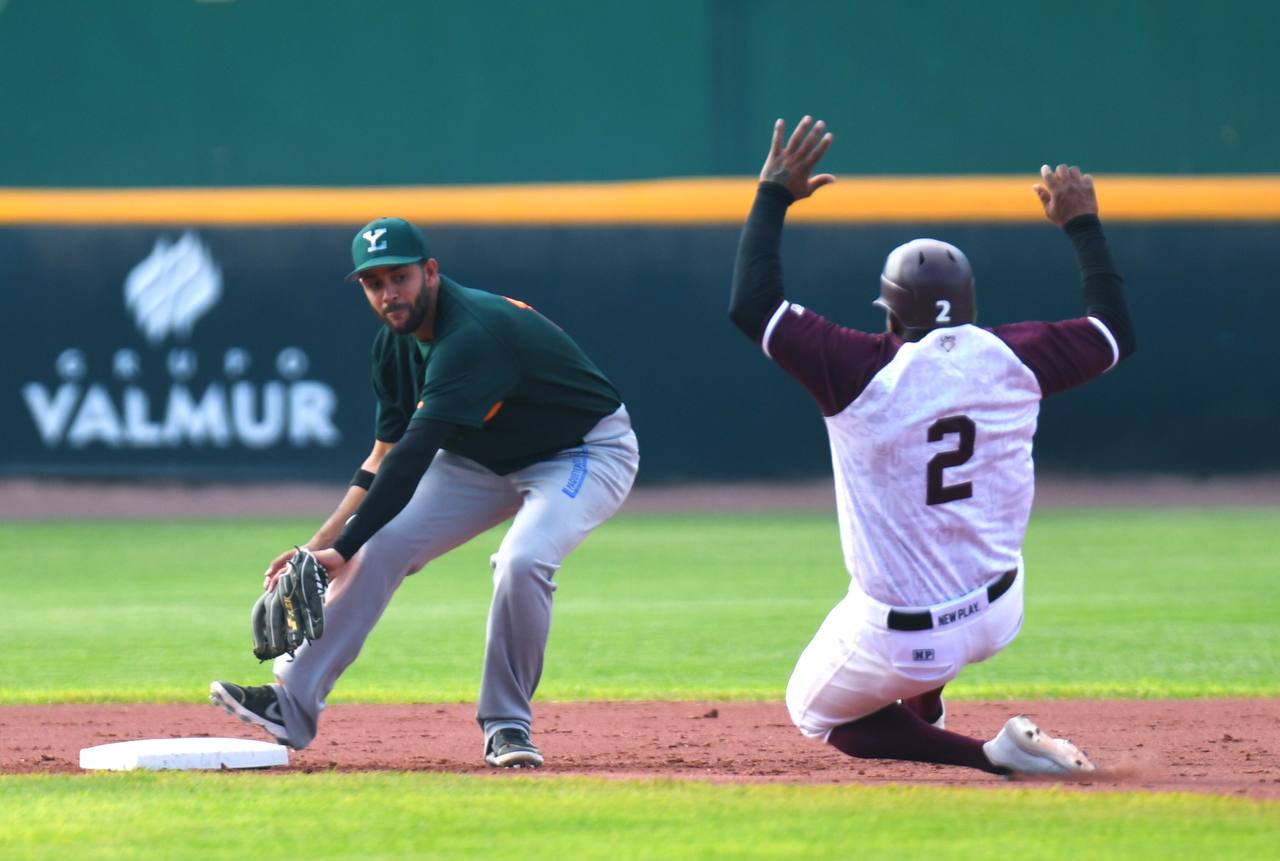
<path id="1" fill-rule="evenodd" d="M 0 186 L 1274 173 L 1268 0 L 5 0 Z"/>

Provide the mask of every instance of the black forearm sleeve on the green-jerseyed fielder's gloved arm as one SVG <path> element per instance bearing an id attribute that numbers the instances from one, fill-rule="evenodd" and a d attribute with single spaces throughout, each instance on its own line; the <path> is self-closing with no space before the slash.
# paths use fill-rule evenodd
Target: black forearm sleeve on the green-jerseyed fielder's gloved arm
<path id="1" fill-rule="evenodd" d="M 453 432 L 454 425 L 431 418 L 410 422 L 404 436 L 396 443 L 378 467 L 369 494 L 360 503 L 355 516 L 347 522 L 333 549 L 343 559 L 351 559 L 387 526 L 412 499 L 417 484 L 431 466 L 431 458 Z"/>

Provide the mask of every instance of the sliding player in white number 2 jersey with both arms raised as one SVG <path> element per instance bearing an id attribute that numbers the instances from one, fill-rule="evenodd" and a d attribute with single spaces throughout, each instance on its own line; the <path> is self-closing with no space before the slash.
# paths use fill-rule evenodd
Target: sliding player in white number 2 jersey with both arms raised
<path id="1" fill-rule="evenodd" d="M 849 594 L 787 684 L 800 731 L 858 757 L 997 774 L 1093 770 L 1025 716 L 991 741 L 947 732 L 943 686 L 1007 646 L 1023 622 L 1021 542 L 1039 402 L 1134 351 L 1093 180 L 1041 169 L 1050 221 L 1075 246 L 1085 316 L 975 325 L 959 248 L 915 239 L 890 253 L 876 304 L 887 331 L 838 326 L 788 302 L 778 247 L 787 207 L 835 182 L 813 175 L 832 136 L 778 120 L 742 229 L 732 321 L 795 377 L 826 417 Z"/>

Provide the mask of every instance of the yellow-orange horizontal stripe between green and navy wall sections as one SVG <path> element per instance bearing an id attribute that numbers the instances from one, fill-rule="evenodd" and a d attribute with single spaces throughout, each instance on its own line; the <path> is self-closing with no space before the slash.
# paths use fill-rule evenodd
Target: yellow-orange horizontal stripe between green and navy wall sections
<path id="1" fill-rule="evenodd" d="M 791 221 L 1039 221 L 1027 177 L 849 177 Z M 328 224 L 398 215 L 421 225 L 740 224 L 751 178 L 385 188 L 0 189 L 4 225 Z M 1280 220 L 1280 175 L 1097 178 L 1108 221 Z"/>

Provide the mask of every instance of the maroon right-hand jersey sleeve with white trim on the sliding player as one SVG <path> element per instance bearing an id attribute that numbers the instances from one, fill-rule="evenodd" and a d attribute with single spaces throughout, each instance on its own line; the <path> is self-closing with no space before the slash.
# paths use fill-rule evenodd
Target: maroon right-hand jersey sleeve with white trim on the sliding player
<path id="1" fill-rule="evenodd" d="M 1036 375 L 1041 397 L 1088 383 L 1116 363 L 1115 339 L 1091 317 L 1015 322 L 991 331 Z"/>

